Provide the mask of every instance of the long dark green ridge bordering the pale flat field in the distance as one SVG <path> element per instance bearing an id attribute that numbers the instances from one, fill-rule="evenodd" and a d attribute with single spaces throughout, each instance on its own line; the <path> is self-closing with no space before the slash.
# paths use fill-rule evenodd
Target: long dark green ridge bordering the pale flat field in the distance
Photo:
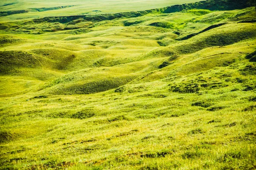
<path id="1" fill-rule="evenodd" d="M 114 14 L 99 14 L 99 15 L 74 15 L 74 16 L 63 16 L 63 17 L 43 17 L 39 19 L 34 19 L 35 23 L 40 22 L 59 22 L 59 23 L 68 23 L 73 20 L 77 20 L 79 18 L 83 18 L 87 21 L 103 21 L 103 20 L 114 20 L 116 18 L 122 17 L 141 17 L 145 14 L 149 14 L 152 12 L 160 12 L 163 14 L 179 12 L 188 9 L 209 9 L 213 10 L 234 10 L 234 9 L 243 9 L 250 7 L 248 0 L 204 0 L 196 3 L 186 3 L 182 5 L 174 5 L 165 8 L 155 8 L 151 10 L 145 11 L 134 11 L 134 12 L 122 12 L 122 13 L 114 13 Z"/>

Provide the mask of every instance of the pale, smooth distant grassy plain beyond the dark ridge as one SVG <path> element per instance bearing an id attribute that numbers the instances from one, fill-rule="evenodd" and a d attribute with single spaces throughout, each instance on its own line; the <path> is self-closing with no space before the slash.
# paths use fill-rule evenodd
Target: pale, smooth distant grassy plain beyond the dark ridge
<path id="1" fill-rule="evenodd" d="M 49 16 L 141 11 L 198 1 L 200 0 L 1 0 L 0 11 L 13 11 L 14 14 L 0 17 L 0 22 Z"/>

